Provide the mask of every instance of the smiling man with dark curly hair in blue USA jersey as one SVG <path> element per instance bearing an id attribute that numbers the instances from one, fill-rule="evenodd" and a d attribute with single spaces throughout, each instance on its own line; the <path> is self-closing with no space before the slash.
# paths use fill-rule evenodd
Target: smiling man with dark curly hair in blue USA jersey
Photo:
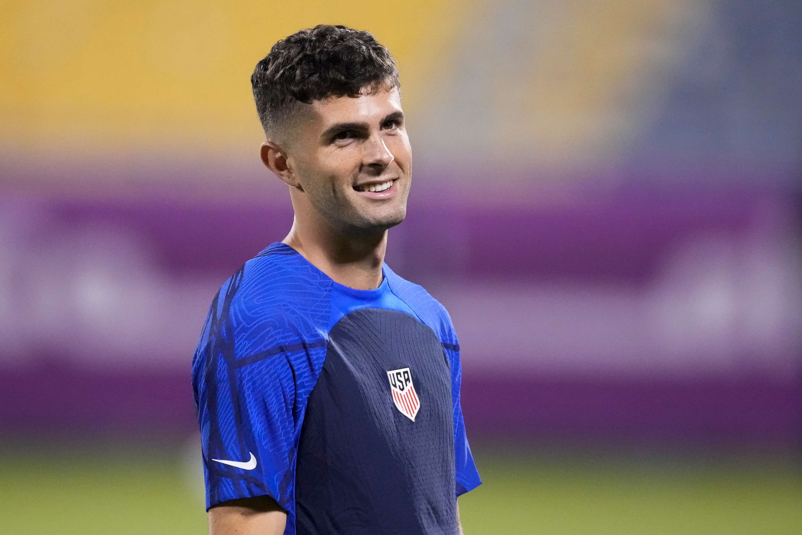
<path id="1" fill-rule="evenodd" d="M 364 31 L 279 41 L 251 78 L 290 233 L 214 299 L 192 361 L 213 535 L 455 535 L 480 484 L 448 312 L 384 264 L 411 182 L 399 75 Z"/>

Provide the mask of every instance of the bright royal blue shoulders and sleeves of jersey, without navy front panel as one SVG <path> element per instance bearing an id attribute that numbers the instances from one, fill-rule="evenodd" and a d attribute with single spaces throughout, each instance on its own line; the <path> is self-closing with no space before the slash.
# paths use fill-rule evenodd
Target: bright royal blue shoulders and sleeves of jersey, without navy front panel
<path id="1" fill-rule="evenodd" d="M 273 243 L 221 287 L 192 359 L 207 509 L 266 494 L 288 513 L 285 534 L 296 533 L 296 464 L 305 446 L 307 403 L 327 352 L 336 349 L 330 331 L 363 309 L 415 318 L 409 325 L 430 332 L 429 342 L 439 342 L 435 360 L 448 363 L 450 379 L 450 394 L 439 395 L 452 403 L 451 421 L 441 421 L 453 431 L 453 443 L 443 450 L 456 471 L 448 476 L 452 496 L 480 484 L 462 423 L 459 343 L 451 319 L 422 287 L 387 265 L 383 274 L 378 289 L 354 290 L 332 281 L 290 246 Z M 389 391 L 387 396 L 389 401 Z M 228 464 L 247 463 L 251 456 L 255 467 Z"/>

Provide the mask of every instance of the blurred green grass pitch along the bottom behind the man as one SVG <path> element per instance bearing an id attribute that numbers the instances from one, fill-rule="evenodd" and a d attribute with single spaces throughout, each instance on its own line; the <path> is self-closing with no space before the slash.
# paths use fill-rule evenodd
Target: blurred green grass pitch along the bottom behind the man
<path id="1" fill-rule="evenodd" d="M 2 533 L 206 533 L 194 463 L 180 448 L 25 449 L 2 452 Z M 475 453 L 484 484 L 460 498 L 468 535 L 802 533 L 802 477 L 788 461 Z"/>

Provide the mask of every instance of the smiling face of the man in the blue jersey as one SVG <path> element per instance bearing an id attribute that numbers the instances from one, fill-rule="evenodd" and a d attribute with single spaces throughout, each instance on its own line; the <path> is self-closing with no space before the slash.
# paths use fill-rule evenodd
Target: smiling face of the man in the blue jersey
<path id="1" fill-rule="evenodd" d="M 294 143 L 300 194 L 340 233 L 398 225 L 407 215 L 412 165 L 398 89 L 318 100 L 311 108 Z"/>

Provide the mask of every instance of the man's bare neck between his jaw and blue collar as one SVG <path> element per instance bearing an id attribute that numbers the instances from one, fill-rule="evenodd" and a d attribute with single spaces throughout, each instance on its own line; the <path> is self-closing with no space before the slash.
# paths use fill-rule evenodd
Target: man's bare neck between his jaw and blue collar
<path id="1" fill-rule="evenodd" d="M 374 290 L 382 283 L 387 231 L 377 236 L 346 237 L 328 229 L 307 232 L 295 220 L 282 242 L 343 286 Z"/>

